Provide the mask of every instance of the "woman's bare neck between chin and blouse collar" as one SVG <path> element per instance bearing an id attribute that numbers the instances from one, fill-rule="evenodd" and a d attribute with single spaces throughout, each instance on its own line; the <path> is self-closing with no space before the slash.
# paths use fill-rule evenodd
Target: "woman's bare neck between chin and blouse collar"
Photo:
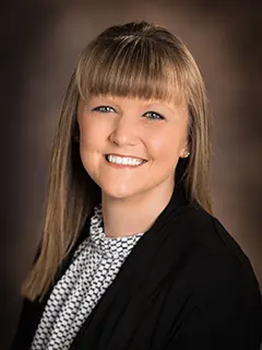
<path id="1" fill-rule="evenodd" d="M 131 236 L 146 232 L 168 205 L 174 185 L 151 189 L 124 199 L 102 195 L 105 235 L 109 237 Z"/>

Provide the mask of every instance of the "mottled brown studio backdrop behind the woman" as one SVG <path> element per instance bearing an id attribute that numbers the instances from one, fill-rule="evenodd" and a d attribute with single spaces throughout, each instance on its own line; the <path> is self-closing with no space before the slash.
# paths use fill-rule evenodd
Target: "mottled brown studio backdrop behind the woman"
<path id="1" fill-rule="evenodd" d="M 1 349 L 40 236 L 46 175 L 61 100 L 83 46 L 105 27 L 153 21 L 199 62 L 214 115 L 216 217 L 262 284 L 259 1 L 8 1 L 1 11 Z M 201 271 L 200 271 L 201 273 Z"/>

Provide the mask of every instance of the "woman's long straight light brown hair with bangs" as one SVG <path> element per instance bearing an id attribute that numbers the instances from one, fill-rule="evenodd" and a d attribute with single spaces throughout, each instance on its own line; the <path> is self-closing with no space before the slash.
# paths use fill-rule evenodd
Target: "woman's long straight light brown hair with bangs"
<path id="1" fill-rule="evenodd" d="M 85 172 L 75 141 L 78 103 L 93 95 L 186 101 L 190 156 L 179 161 L 183 162 L 179 180 L 189 200 L 212 212 L 211 122 L 204 82 L 192 55 L 162 26 L 146 22 L 111 26 L 84 48 L 62 103 L 52 144 L 40 250 L 23 284 L 23 294 L 31 300 L 44 298 L 100 200 L 100 189 Z"/>

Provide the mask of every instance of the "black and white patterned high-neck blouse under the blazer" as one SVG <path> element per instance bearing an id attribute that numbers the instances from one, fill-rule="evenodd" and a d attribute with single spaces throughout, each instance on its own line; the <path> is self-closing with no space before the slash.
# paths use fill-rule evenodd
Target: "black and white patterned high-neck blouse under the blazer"
<path id="1" fill-rule="evenodd" d="M 91 218 L 90 236 L 55 285 L 32 342 L 32 350 L 66 350 L 143 233 L 106 237 L 102 206 Z"/>

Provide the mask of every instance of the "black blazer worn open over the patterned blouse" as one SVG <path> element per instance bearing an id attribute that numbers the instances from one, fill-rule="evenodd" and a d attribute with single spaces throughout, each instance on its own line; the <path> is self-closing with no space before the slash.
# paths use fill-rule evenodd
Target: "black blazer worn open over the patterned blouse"
<path id="1" fill-rule="evenodd" d="M 87 234 L 88 220 L 82 240 Z M 29 349 L 45 303 L 24 301 L 12 350 Z M 261 329 L 249 259 L 215 218 L 175 190 L 71 349 L 259 350 Z"/>

